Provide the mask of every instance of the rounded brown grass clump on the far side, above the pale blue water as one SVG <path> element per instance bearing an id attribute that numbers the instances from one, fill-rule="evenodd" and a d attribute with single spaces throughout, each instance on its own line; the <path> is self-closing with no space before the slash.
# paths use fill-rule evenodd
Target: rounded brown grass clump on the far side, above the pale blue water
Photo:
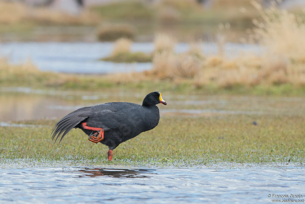
<path id="1" fill-rule="evenodd" d="M 119 38 L 133 39 L 135 31 L 128 25 L 103 26 L 98 29 L 99 41 L 115 41 Z"/>

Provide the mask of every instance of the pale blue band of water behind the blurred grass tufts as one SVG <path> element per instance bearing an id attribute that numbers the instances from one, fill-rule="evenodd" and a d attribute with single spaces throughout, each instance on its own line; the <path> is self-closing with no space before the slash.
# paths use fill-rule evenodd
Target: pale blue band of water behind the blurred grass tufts
<path id="1" fill-rule="evenodd" d="M 216 54 L 215 43 L 205 43 L 201 46 L 205 54 Z M 149 70 L 151 63 L 113 63 L 99 61 L 99 58 L 109 56 L 113 43 L 63 43 L 63 42 L 26 42 L 3 43 L 0 46 L 0 56 L 9 58 L 13 63 L 22 63 L 30 59 L 39 69 L 53 72 L 70 73 L 116 73 L 141 72 Z M 154 45 L 151 42 L 133 43 L 132 51 L 151 53 Z M 175 51 L 185 52 L 188 44 L 179 43 Z M 226 53 L 234 56 L 241 51 L 259 52 L 255 45 L 228 43 Z"/>

